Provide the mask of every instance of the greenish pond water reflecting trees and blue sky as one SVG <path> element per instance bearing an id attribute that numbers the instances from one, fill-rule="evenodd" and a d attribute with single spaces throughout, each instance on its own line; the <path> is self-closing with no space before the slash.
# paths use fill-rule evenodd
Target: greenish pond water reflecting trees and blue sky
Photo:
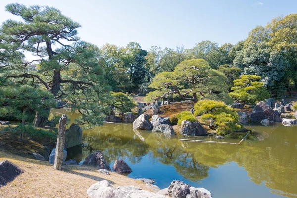
<path id="1" fill-rule="evenodd" d="M 55 113 L 67 113 L 71 121 L 78 116 L 61 109 Z M 101 150 L 111 167 L 124 159 L 133 170 L 128 177 L 155 179 L 161 189 L 182 180 L 206 188 L 214 198 L 297 198 L 297 127 L 246 127 L 261 140 L 240 145 L 181 142 L 178 136 L 133 130 L 132 124 L 104 123 L 83 130 L 88 146 L 74 157 L 80 160 Z"/>

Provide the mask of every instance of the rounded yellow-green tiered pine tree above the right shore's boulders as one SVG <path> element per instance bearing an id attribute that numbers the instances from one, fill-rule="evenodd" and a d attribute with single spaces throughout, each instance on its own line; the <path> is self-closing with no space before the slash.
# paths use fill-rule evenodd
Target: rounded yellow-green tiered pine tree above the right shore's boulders
<path id="1" fill-rule="evenodd" d="M 233 92 L 230 93 L 232 99 L 238 102 L 256 103 L 264 101 L 269 97 L 268 91 L 260 82 L 261 77 L 256 75 L 243 75 L 240 79 L 234 80 Z"/>

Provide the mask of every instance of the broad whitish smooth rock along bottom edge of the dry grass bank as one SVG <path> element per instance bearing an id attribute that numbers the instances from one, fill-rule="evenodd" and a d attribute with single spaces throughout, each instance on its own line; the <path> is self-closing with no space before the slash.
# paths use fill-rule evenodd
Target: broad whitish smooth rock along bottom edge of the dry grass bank
<path id="1" fill-rule="evenodd" d="M 150 191 L 141 190 L 136 186 L 114 188 L 106 180 L 93 184 L 87 194 L 90 198 L 166 198 Z"/>

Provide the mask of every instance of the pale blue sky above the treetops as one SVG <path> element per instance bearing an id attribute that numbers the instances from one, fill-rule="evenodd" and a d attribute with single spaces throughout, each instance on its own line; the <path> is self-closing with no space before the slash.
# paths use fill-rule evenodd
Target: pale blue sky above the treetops
<path id="1" fill-rule="evenodd" d="M 97 46 L 185 49 L 202 40 L 236 44 L 257 25 L 297 12 L 297 0 L 0 0 L 0 22 L 14 18 L 8 3 L 49 5 L 79 22 L 79 36 Z"/>

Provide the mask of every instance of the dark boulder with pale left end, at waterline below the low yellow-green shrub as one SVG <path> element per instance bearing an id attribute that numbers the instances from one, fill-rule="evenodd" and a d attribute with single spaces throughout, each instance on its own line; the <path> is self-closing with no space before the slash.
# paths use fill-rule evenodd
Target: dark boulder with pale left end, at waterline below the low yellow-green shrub
<path id="1" fill-rule="evenodd" d="M 183 135 L 204 136 L 207 135 L 207 130 L 199 122 L 190 122 L 183 120 L 181 126 L 181 133 Z"/>

